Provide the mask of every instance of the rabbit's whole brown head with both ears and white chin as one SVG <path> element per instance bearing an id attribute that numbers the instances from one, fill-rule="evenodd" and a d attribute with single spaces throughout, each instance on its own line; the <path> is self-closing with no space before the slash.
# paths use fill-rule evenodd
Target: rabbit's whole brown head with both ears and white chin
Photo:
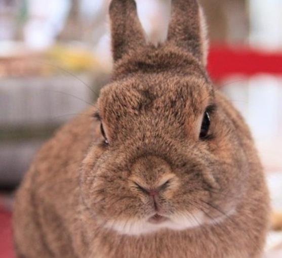
<path id="1" fill-rule="evenodd" d="M 172 0 L 168 37 L 148 43 L 134 0 L 110 5 L 112 81 L 95 117 L 101 133 L 80 190 L 105 229 L 139 235 L 215 224 L 248 187 L 240 116 L 214 90 L 195 0 Z"/>

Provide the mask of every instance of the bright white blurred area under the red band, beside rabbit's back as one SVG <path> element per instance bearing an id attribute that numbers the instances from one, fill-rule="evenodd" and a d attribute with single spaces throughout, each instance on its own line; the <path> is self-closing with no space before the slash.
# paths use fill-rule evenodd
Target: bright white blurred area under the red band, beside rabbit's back
<path id="1" fill-rule="evenodd" d="M 223 84 L 223 92 L 250 126 L 265 170 L 282 172 L 282 77 L 234 77 Z"/>

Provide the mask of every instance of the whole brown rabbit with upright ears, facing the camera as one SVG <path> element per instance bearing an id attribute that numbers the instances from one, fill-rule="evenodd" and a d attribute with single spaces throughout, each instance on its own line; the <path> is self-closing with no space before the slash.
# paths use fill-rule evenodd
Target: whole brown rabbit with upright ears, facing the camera
<path id="1" fill-rule="evenodd" d="M 110 18 L 112 81 L 32 163 L 14 207 L 18 257 L 261 257 L 263 170 L 206 72 L 197 2 L 172 0 L 157 47 L 133 0 L 113 0 Z"/>

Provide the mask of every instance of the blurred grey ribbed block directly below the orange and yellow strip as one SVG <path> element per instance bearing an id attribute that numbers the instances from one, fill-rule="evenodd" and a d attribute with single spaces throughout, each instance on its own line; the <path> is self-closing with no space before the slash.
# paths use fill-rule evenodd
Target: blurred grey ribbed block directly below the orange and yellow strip
<path id="1" fill-rule="evenodd" d="M 77 75 L 90 84 L 88 76 Z M 93 93 L 72 76 L 7 78 L 0 81 L 0 126 L 58 124 L 92 103 Z"/>

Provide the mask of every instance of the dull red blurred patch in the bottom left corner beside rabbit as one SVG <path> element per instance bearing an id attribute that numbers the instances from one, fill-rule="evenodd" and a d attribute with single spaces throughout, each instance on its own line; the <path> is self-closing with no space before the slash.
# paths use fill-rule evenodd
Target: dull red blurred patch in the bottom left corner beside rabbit
<path id="1" fill-rule="evenodd" d="M 11 213 L 0 206 L 0 258 L 14 258 Z"/>

